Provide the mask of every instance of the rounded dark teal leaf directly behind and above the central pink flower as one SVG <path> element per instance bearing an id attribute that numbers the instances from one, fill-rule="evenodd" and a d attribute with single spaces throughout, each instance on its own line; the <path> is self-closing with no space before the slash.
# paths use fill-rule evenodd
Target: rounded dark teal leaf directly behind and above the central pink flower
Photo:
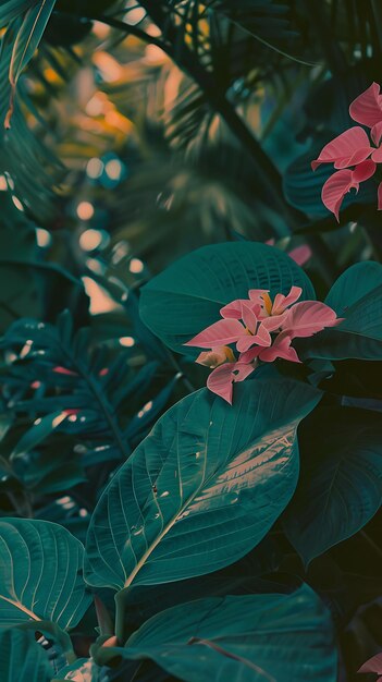
<path id="1" fill-rule="evenodd" d="M 256 242 L 204 246 L 181 258 L 144 287 L 140 315 L 167 345 L 193 354 L 183 344 L 219 319 L 220 308 L 248 296 L 249 289 L 269 289 L 272 296 L 303 288 L 315 299 L 304 270 L 285 253 Z"/>

